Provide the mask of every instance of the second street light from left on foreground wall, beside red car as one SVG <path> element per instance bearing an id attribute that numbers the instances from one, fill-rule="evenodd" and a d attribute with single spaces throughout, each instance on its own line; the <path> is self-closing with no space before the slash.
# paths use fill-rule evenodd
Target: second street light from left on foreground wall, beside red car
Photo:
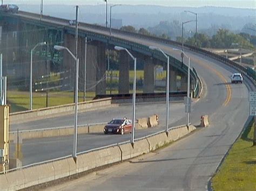
<path id="1" fill-rule="evenodd" d="M 133 108 L 133 118 L 132 118 L 132 135 L 131 135 L 131 144 L 134 145 L 134 130 L 135 130 L 135 117 L 136 117 L 136 68 L 137 68 L 137 58 L 135 58 L 127 48 L 115 46 L 114 49 L 117 51 L 126 51 L 131 58 L 134 60 L 134 75 L 133 75 L 133 93 L 132 93 L 132 108 Z"/>

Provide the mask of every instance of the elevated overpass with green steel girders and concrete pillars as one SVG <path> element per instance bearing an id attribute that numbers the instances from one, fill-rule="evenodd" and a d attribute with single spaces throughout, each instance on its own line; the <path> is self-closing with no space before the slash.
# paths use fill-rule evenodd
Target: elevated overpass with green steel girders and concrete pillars
<path id="1" fill-rule="evenodd" d="M 49 43 L 50 54 L 57 54 L 53 49 L 53 45 L 64 45 L 68 47 L 71 52 L 75 52 L 75 26 L 69 25 L 69 20 L 53 18 L 50 16 L 43 16 L 41 19 L 39 15 L 35 13 L 19 11 L 18 14 L 2 14 L 2 28 L 3 28 L 3 38 L 4 32 L 6 30 L 12 30 L 14 32 L 18 31 L 18 38 L 6 36 L 5 45 L 9 46 L 8 41 L 16 45 L 15 48 L 12 48 L 11 51 L 8 48 L 8 51 L 3 50 L 4 63 L 9 63 L 10 58 L 13 58 L 12 54 L 16 54 L 16 62 L 23 62 L 18 65 L 16 70 L 19 70 L 19 75 L 28 76 L 29 68 L 26 67 L 26 62 L 29 62 L 30 49 L 35 46 L 39 41 L 46 41 Z M 87 38 L 90 43 L 88 43 L 87 48 L 87 74 L 86 75 L 86 86 L 87 89 L 95 89 L 96 95 L 106 94 L 106 80 L 105 80 L 105 69 L 106 69 L 106 49 L 114 49 L 114 46 L 122 46 L 133 52 L 134 55 L 138 58 L 139 65 L 144 66 L 144 93 L 153 93 L 154 92 L 154 66 L 161 65 L 166 68 L 166 58 L 158 51 L 152 51 L 147 45 L 143 45 L 140 42 L 132 39 L 127 39 L 126 36 L 128 33 L 113 30 L 113 34 L 109 36 L 109 29 L 105 27 L 89 25 L 85 23 L 79 23 L 78 27 L 78 58 L 80 64 L 79 67 L 79 76 L 80 83 L 79 89 L 84 88 L 84 62 L 85 62 L 85 38 Z M 129 34 L 132 36 L 133 34 Z M 29 37 L 32 38 L 29 38 Z M 19 40 L 17 40 L 19 39 Z M 21 40 L 22 39 L 22 40 Z M 26 47 L 22 49 L 22 47 Z M 22 49 L 22 51 L 21 51 Z M 18 50 L 18 51 L 17 51 Z M 45 55 L 41 55 L 45 56 Z M 177 91 L 176 78 L 177 75 L 181 76 L 181 87 L 179 90 L 186 90 L 186 75 L 187 75 L 187 66 L 181 63 L 180 58 L 173 58 L 172 55 L 170 59 L 171 65 L 171 75 L 170 75 L 170 90 Z M 68 70 L 70 73 L 70 86 L 74 84 L 73 79 L 74 67 L 73 60 L 71 56 L 63 52 L 60 55 L 60 62 L 62 62 L 63 70 Z M 120 63 L 119 63 L 119 94 L 128 94 L 129 93 L 129 57 L 126 53 L 120 52 Z M 35 71 L 33 76 L 41 76 L 46 73 L 45 68 L 42 68 L 42 62 L 34 64 Z M 15 66 L 17 67 L 17 66 Z M 196 94 L 198 94 L 199 86 L 196 85 L 198 79 L 196 72 L 191 69 L 191 83 L 194 84 L 193 87 Z M 64 78 L 66 76 L 63 76 Z M 83 77 L 83 78 L 82 78 Z M 68 78 L 68 77 L 67 77 Z M 83 82 L 82 82 L 83 81 Z M 66 82 L 64 82 L 66 83 Z M 96 85 L 95 85 L 96 84 Z"/>

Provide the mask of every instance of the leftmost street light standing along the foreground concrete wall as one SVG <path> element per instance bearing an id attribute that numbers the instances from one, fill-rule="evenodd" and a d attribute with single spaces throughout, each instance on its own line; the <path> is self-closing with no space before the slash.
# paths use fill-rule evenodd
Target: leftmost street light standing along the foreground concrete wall
<path id="1" fill-rule="evenodd" d="M 76 58 L 75 55 L 72 54 L 72 52 L 69 50 L 69 48 L 66 48 L 64 46 L 57 46 L 55 45 L 54 48 L 57 51 L 61 51 L 63 49 L 66 49 L 72 56 L 72 58 L 76 61 L 76 89 L 75 89 L 75 126 L 74 126 L 74 135 L 73 135 L 73 154 L 72 157 L 76 161 L 77 159 L 77 124 L 78 124 L 78 74 L 79 74 L 79 59 Z"/>

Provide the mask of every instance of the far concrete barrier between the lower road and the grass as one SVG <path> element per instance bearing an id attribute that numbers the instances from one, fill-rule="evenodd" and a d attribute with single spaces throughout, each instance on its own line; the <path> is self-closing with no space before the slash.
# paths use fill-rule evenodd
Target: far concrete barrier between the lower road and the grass
<path id="1" fill-rule="evenodd" d="M 111 105 L 111 98 L 102 98 L 98 100 L 92 100 L 87 102 L 78 103 L 78 110 L 84 111 L 89 109 L 98 109 L 103 107 L 109 107 Z M 31 111 L 14 112 L 10 114 L 10 122 L 16 123 L 20 121 L 33 121 L 37 118 L 50 118 L 53 116 L 62 116 L 69 114 L 75 109 L 75 104 L 57 105 L 54 107 L 35 109 Z"/>

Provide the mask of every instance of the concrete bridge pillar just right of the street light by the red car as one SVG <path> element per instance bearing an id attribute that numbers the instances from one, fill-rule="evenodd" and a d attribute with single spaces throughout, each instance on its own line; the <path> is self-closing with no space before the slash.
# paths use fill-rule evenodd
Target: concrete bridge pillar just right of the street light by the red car
<path id="1" fill-rule="evenodd" d="M 154 93 L 154 61 L 147 57 L 144 63 L 143 93 Z"/>

